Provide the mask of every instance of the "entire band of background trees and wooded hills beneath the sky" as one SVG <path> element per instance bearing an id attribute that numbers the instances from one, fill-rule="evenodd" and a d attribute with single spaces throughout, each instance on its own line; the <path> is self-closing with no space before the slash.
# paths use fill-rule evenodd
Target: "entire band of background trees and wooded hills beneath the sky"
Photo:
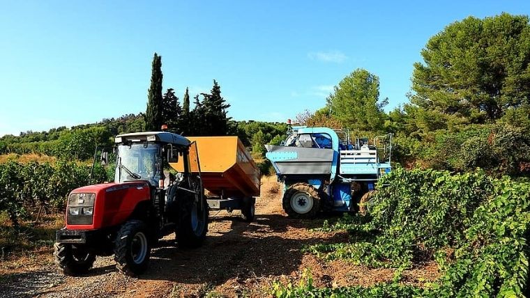
<path id="1" fill-rule="evenodd" d="M 467 17 L 432 36 L 414 64 L 409 102 L 386 112 L 379 77 L 357 69 L 342 79 L 314 113 L 296 116 L 300 124 L 345 127 L 352 136 L 395 135 L 393 157 L 406 167 L 528 176 L 530 171 L 530 25 L 529 17 L 503 13 Z M 209 93 L 183 100 L 162 93 L 161 57 L 153 56 L 145 113 L 99 123 L 24 132 L 0 138 L 0 154 L 36 152 L 68 159 L 89 159 L 96 144 L 112 136 L 160 130 L 184 136 L 237 135 L 255 157 L 264 144 L 280 143 L 287 125 L 234 121 L 217 81 Z M 193 102 L 191 102 L 193 101 Z"/>

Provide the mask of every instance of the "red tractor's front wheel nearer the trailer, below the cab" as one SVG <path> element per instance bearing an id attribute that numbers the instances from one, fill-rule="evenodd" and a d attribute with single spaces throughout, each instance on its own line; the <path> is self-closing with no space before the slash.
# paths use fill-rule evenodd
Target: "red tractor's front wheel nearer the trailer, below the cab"
<path id="1" fill-rule="evenodd" d="M 151 246 L 143 221 L 131 220 L 121 226 L 114 243 L 116 268 L 127 275 L 141 274 L 147 269 Z"/>

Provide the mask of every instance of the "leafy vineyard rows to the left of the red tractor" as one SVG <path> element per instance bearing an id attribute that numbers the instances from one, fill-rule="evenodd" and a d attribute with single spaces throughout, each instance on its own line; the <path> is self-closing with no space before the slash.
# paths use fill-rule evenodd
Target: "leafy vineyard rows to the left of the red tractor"
<path id="1" fill-rule="evenodd" d="M 0 164 L 0 212 L 8 212 L 17 226 L 18 219 L 27 215 L 27 210 L 38 206 L 62 208 L 72 189 L 89 185 L 90 167 L 65 161 Z M 106 171 L 96 166 L 92 182 L 109 181 Z"/>

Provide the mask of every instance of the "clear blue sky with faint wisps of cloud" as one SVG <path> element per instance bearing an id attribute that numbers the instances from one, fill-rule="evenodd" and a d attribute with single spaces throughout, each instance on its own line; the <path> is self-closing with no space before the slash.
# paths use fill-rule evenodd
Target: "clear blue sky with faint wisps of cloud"
<path id="1" fill-rule="evenodd" d="M 530 1 L 3 1 L 0 135 L 145 111 L 154 52 L 182 98 L 218 80 L 236 120 L 285 121 L 324 106 L 356 68 L 407 102 L 430 36 Z"/>

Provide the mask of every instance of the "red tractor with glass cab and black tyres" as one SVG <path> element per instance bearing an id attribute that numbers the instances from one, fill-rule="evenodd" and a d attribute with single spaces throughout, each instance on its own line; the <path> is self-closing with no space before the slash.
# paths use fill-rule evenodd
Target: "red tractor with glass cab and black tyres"
<path id="1" fill-rule="evenodd" d="M 56 231 L 54 245 L 55 262 L 65 274 L 84 274 L 96 256 L 113 254 L 121 272 L 140 274 L 161 237 L 175 233 L 186 247 L 200 246 L 206 237 L 209 206 L 195 143 L 170 132 L 121 134 L 115 141 L 114 182 L 80 187 L 68 196 L 66 227 Z M 179 159 L 183 171 L 165 175 Z"/>

